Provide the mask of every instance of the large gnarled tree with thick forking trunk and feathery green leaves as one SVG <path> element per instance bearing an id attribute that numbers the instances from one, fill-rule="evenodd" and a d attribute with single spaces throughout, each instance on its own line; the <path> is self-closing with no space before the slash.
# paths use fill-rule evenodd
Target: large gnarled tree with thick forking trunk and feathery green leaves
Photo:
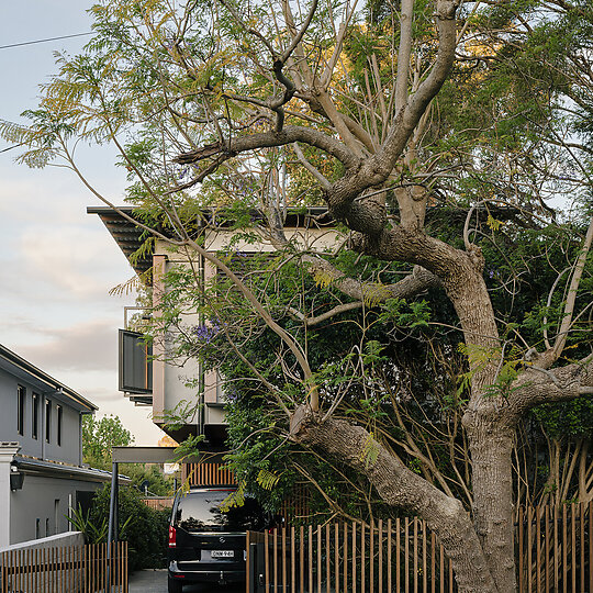
<path id="1" fill-rule="evenodd" d="M 119 0 L 92 12 L 97 35 L 87 51 L 60 57 L 40 110 L 27 114 L 31 124 L 4 124 L 4 136 L 27 146 L 22 159 L 32 166 L 65 159 L 115 208 L 87 181 L 71 146 L 113 143 L 130 171 L 128 200 L 139 208 L 136 216 L 121 215 L 187 258 L 216 266 L 234 284 L 230 295 L 238 292 L 277 336 L 290 361 L 282 388 L 220 326 L 283 412 L 290 438 L 348 465 L 385 504 L 426 519 L 460 591 L 514 591 L 516 427 L 534 406 L 593 388 L 591 354 L 573 361 L 564 355 L 574 321 L 584 318 L 575 306 L 593 225 L 584 217 L 581 253 L 550 287 L 548 309 L 568 278 L 556 323 L 544 315 L 541 342 L 524 343 L 494 313 L 474 221 L 501 202 L 530 224 L 549 216 L 550 195 L 578 193 L 585 203 L 591 8 L 564 1 Z M 342 250 L 403 262 L 406 276 L 390 282 L 353 277 L 314 246 L 298 251 L 283 233 L 287 208 L 317 203 L 345 225 Z M 389 307 L 428 288 L 443 291 L 467 363 L 462 428 L 472 463 L 471 515 L 378 435 L 333 413 L 335 383 L 306 348 L 318 320 L 293 311 L 300 329 L 287 329 L 279 323 L 286 310 L 259 299 L 234 273 L 237 258 L 205 248 L 203 231 L 217 223 L 200 219 L 201 209 L 221 204 L 242 220 L 257 208 L 266 237 L 318 286 L 344 295 L 325 318 L 357 306 Z M 427 224 L 427 210 L 437 204 L 465 210 L 460 237 Z M 489 222 L 499 225 L 492 214 Z M 264 233 L 262 225 L 256 231 Z M 195 300 L 208 298 L 202 289 Z M 249 323 L 246 335 L 255 327 Z"/>

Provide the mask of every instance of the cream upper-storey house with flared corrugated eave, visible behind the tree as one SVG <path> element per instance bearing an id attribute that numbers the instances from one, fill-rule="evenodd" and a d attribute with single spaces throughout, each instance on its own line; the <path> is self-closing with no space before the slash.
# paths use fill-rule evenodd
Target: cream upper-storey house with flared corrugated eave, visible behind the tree
<path id="1" fill-rule="evenodd" d="M 133 210 L 128 206 L 121 209 L 133 217 Z M 88 208 L 89 214 L 97 214 L 105 225 L 111 236 L 131 262 L 135 272 L 147 279 L 153 293 L 153 304 L 156 305 L 160 296 L 167 291 L 164 277 L 175 266 L 187 265 L 180 254 L 171 251 L 166 242 L 155 240 L 149 249 L 143 247 L 145 233 L 119 212 L 107 206 Z M 309 214 L 318 215 L 325 209 L 311 209 L 304 215 L 289 213 L 286 233 L 288 237 L 305 242 L 318 249 L 335 244 L 335 232 L 311 223 Z M 216 213 L 203 211 L 202 221 L 206 221 L 203 235 L 206 250 L 217 253 L 232 244 L 234 251 L 248 256 L 253 253 L 273 251 L 271 243 L 261 240 L 248 243 L 236 240 L 236 231 L 225 221 L 217 221 Z M 160 230 L 166 233 L 166 231 Z M 141 247 L 143 247 L 141 249 Z M 138 256 L 139 254 L 139 256 Z M 208 282 L 216 273 L 216 269 L 201 257 L 193 262 L 197 273 Z M 152 273 L 149 273 L 152 271 Z M 148 272 L 148 273 L 147 273 Z M 148 312 L 149 313 L 149 312 Z M 188 325 L 201 325 L 203 320 L 187 315 Z M 153 409 L 153 422 L 170 434 L 177 441 L 183 440 L 188 435 L 204 435 L 206 443 L 219 446 L 226 438 L 224 419 L 224 388 L 215 371 L 202 372 L 199 365 L 191 359 L 179 361 L 170 360 L 167 353 L 166 340 L 155 340 L 154 353 L 146 346 L 143 336 L 124 327 L 120 331 L 120 391 L 137 405 L 148 405 Z M 199 379 L 201 389 L 194 384 L 187 387 L 188 379 Z M 174 410 L 182 402 L 193 402 L 200 398 L 195 415 L 190 418 L 181 429 L 170 429 L 164 424 L 164 413 Z"/>

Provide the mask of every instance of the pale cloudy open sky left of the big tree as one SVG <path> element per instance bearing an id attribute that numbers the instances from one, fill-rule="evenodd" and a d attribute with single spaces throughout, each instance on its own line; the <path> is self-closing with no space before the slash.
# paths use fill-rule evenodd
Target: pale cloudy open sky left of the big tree
<path id="1" fill-rule="evenodd" d="M 87 0 L 0 2 L 0 46 L 90 32 Z M 56 72 L 54 52 L 76 54 L 90 36 L 0 48 L 0 119 L 24 123 L 40 85 Z M 113 414 L 137 445 L 163 433 L 118 391 L 118 328 L 134 295 L 109 290 L 133 276 L 89 205 L 102 205 L 71 171 L 30 169 L 0 139 L 0 344 Z M 83 170 L 113 202 L 125 178 L 110 149 L 83 147 Z M 1 435 L 0 435 L 1 438 Z"/>

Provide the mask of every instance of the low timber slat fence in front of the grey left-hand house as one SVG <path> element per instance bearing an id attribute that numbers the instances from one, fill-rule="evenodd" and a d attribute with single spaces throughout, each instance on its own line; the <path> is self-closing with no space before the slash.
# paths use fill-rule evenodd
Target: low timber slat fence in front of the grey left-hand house
<path id="1" fill-rule="evenodd" d="M 0 562 L 1 593 L 127 593 L 127 541 L 112 544 L 111 560 L 96 544 L 8 550 Z"/>

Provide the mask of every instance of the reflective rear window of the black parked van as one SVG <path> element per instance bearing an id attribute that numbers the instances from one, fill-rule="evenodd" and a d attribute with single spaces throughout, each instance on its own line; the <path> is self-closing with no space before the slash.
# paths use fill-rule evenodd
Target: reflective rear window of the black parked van
<path id="1" fill-rule="evenodd" d="M 261 506 L 249 496 L 242 506 L 221 511 L 228 494 L 231 491 L 188 493 L 179 499 L 176 525 L 186 532 L 258 532 L 267 527 Z"/>

